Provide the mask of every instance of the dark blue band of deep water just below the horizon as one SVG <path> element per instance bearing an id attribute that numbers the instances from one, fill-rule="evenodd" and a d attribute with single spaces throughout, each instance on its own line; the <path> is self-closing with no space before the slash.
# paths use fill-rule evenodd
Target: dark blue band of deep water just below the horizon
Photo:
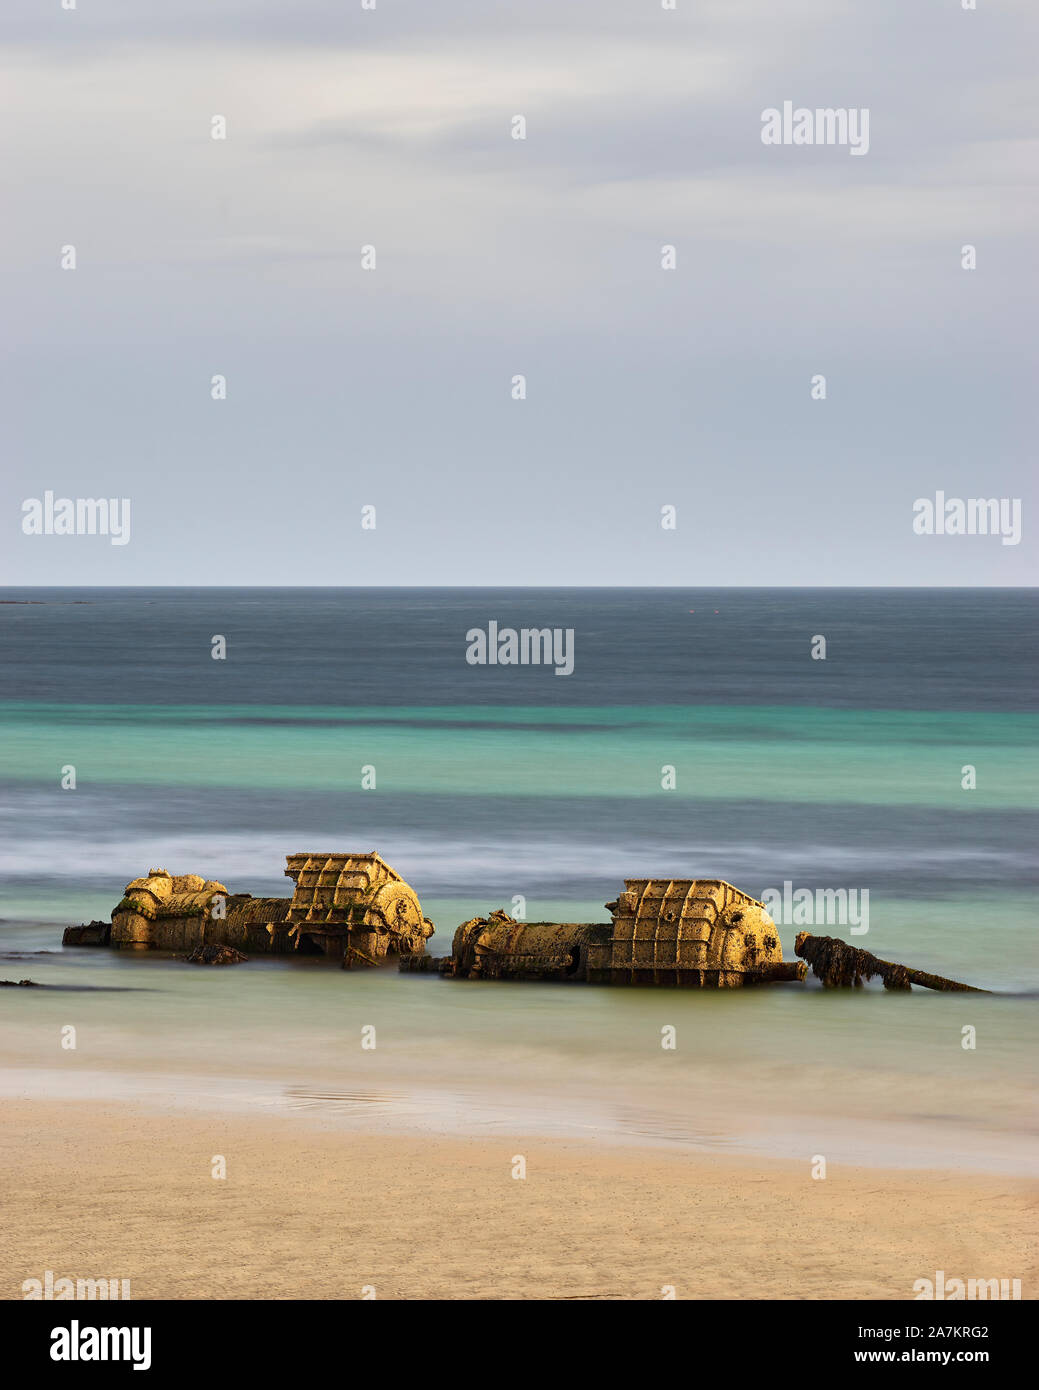
<path id="1" fill-rule="evenodd" d="M 1031 589 L 3 589 L 0 701 L 1033 712 Z M 695 612 L 690 612 L 695 610 Z M 473 667 L 490 619 L 569 677 Z M 210 638 L 228 660 L 210 659 Z M 828 641 L 811 659 L 812 638 Z"/>

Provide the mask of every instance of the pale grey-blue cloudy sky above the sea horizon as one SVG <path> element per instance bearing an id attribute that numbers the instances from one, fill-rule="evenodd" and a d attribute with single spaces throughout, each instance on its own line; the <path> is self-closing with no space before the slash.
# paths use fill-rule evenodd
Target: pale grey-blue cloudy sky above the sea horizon
<path id="1" fill-rule="evenodd" d="M 1032 0 L 6 0 L 0 584 L 1035 584 L 1038 40 Z M 764 145 L 786 100 L 868 152 Z M 128 543 L 25 534 L 47 491 Z M 917 534 L 937 492 L 1020 542 Z"/>

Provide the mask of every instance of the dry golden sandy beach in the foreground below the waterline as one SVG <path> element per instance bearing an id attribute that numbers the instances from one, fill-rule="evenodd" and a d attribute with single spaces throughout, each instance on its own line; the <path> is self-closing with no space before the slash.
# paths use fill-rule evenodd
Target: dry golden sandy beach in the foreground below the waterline
<path id="1" fill-rule="evenodd" d="M 4 1101 L 3 1297 L 912 1298 L 1036 1287 L 1039 1183 L 533 1137 L 356 1134 L 313 1118 Z M 227 1177 L 214 1179 L 214 1155 Z M 513 1161 L 526 1159 L 516 1179 Z"/>

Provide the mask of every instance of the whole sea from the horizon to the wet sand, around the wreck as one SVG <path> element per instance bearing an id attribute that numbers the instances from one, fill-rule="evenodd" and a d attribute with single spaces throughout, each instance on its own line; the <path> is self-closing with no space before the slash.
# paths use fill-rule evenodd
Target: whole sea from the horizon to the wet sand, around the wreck
<path id="1" fill-rule="evenodd" d="M 0 1095 L 1035 1172 L 1038 617 L 994 588 L 3 589 L 0 979 L 54 988 L 0 988 Z M 491 624 L 570 634 L 573 670 L 472 664 Z M 299 851 L 377 851 L 435 955 L 495 908 L 608 922 L 626 878 L 726 878 L 868 901 L 854 934 L 780 920 L 787 959 L 811 930 L 990 992 L 61 947 L 152 867 L 289 895 Z"/>

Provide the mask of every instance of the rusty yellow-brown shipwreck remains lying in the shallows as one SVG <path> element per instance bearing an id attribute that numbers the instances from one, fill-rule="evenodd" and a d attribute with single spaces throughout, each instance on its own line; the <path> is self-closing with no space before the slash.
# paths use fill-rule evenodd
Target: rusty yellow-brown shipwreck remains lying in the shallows
<path id="1" fill-rule="evenodd" d="M 558 980 L 590 984 L 733 990 L 801 981 L 811 965 L 828 988 L 974 990 L 943 976 L 880 960 L 833 937 L 800 933 L 783 959 L 768 908 L 722 878 L 626 878 L 609 922 L 519 922 L 506 912 L 472 917 L 451 955 L 426 951 L 434 926 L 414 888 L 374 851 L 289 855 L 291 898 L 231 894 L 198 874 L 152 869 L 127 884 L 111 922 L 67 927 L 67 947 L 166 951 L 199 965 L 248 955 L 317 955 L 344 969 L 391 959 L 401 970 L 460 980 Z"/>

